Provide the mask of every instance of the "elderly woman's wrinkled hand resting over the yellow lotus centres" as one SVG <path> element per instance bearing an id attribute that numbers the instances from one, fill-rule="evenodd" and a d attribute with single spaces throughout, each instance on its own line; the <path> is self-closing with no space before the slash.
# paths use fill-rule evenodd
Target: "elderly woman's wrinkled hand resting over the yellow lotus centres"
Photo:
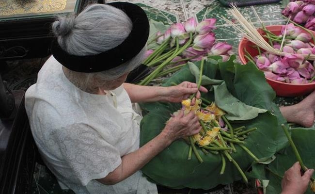
<path id="1" fill-rule="evenodd" d="M 200 129 L 199 118 L 196 114 L 189 112 L 187 115 L 184 115 L 184 109 L 181 109 L 176 116 L 168 121 L 162 132 L 166 134 L 167 138 L 174 141 L 197 134 Z"/>

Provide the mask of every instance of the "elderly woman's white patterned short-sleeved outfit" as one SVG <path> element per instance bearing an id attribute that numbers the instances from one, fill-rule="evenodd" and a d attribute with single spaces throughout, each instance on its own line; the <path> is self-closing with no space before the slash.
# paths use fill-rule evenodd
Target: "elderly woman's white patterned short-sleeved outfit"
<path id="1" fill-rule="evenodd" d="M 104 178 L 121 157 L 139 148 L 141 116 L 120 86 L 106 95 L 83 92 L 64 76 L 51 56 L 25 94 L 31 131 L 47 167 L 62 189 L 77 194 L 157 194 L 136 172 L 115 185 Z"/>

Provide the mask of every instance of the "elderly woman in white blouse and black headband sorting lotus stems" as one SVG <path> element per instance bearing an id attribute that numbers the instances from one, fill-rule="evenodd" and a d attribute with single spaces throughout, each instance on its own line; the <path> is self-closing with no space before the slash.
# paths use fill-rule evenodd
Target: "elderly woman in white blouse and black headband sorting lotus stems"
<path id="1" fill-rule="evenodd" d="M 25 95 L 31 131 L 62 189 L 77 194 L 154 194 L 139 171 L 174 140 L 198 133 L 183 111 L 139 147 L 141 116 L 132 102 L 180 102 L 194 83 L 149 87 L 124 83 L 143 60 L 149 25 L 131 3 L 93 4 L 53 23 L 53 56 Z M 204 87 L 200 91 L 206 92 Z"/>

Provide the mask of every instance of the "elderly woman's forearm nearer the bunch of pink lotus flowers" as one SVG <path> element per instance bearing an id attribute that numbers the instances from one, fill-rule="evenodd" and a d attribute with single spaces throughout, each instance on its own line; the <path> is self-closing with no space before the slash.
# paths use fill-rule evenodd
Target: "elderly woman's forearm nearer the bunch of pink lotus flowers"
<path id="1" fill-rule="evenodd" d="M 167 87 L 142 86 L 131 83 L 124 83 L 123 85 L 131 102 L 163 101 L 167 93 Z"/>

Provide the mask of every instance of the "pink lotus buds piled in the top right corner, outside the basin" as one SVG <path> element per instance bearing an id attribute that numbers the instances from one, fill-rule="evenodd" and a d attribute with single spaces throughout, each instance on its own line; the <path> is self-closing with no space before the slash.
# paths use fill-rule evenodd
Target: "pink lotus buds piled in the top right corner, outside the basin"
<path id="1" fill-rule="evenodd" d="M 315 30 L 315 0 L 291 0 L 282 14 L 307 29 Z"/>

